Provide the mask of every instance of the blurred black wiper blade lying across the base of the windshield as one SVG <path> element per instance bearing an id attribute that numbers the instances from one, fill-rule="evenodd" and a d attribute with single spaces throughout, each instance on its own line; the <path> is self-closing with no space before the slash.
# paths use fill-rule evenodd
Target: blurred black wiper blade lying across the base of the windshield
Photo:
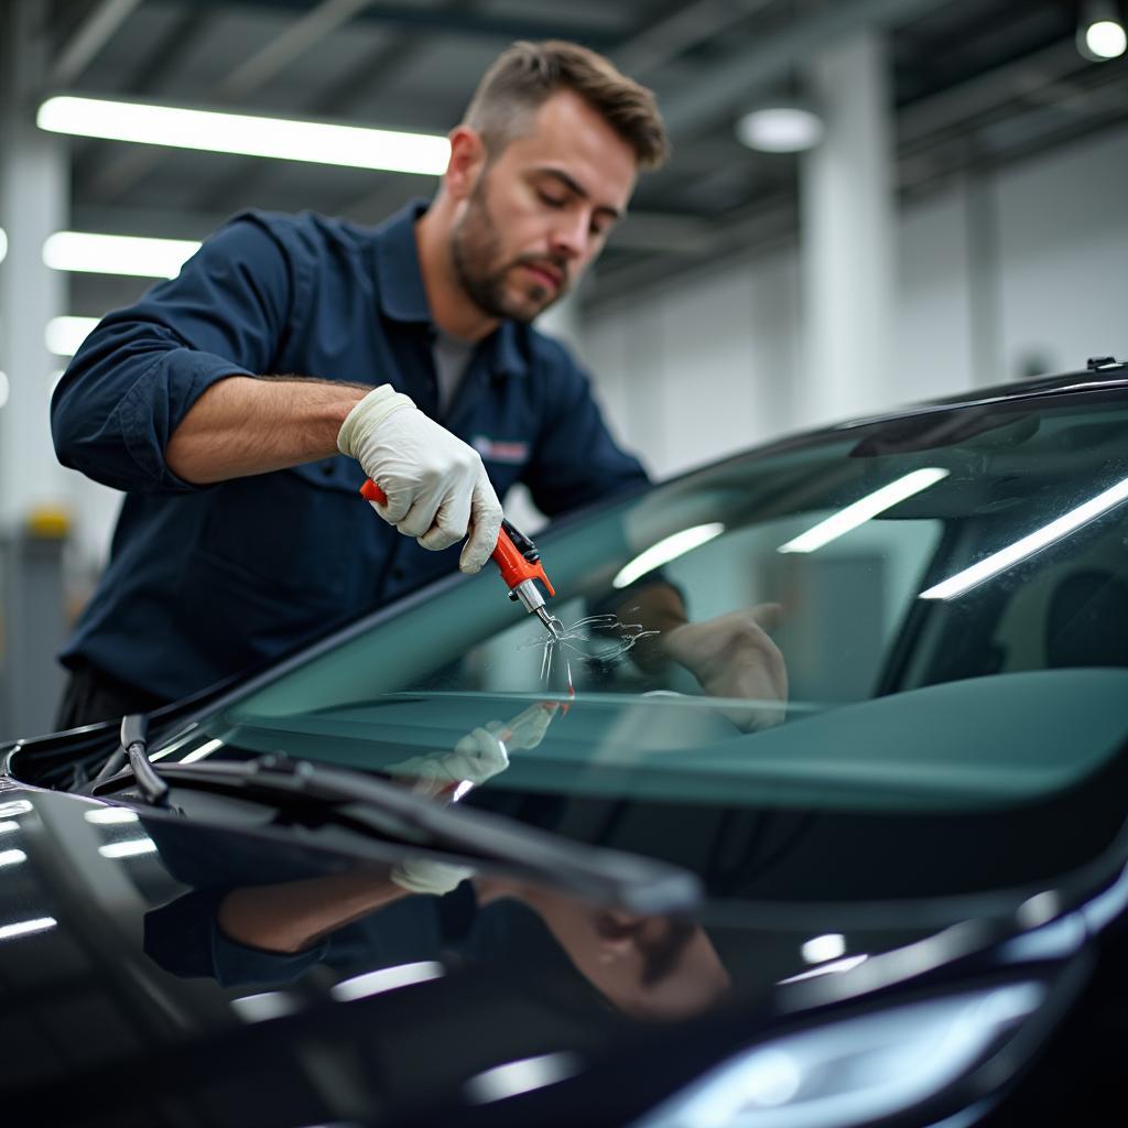
<path id="1" fill-rule="evenodd" d="M 359 807 L 360 813 L 376 817 L 376 829 L 412 846 L 455 855 L 464 864 L 499 862 L 587 900 L 635 913 L 686 914 L 703 899 L 697 875 L 680 866 L 588 846 L 492 811 L 441 807 L 346 768 L 266 757 L 249 764 L 169 764 L 161 776 L 174 787 L 203 785 L 258 799 L 298 795 L 331 812 L 345 804 Z"/>

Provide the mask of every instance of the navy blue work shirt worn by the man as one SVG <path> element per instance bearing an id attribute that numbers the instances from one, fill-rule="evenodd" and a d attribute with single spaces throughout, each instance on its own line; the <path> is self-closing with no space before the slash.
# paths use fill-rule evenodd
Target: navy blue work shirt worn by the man
<path id="1" fill-rule="evenodd" d="M 174 700 L 457 569 L 457 546 L 428 552 L 372 512 L 351 458 L 206 486 L 173 474 L 169 437 L 224 377 L 391 384 L 477 448 L 499 496 L 523 482 L 549 515 L 645 482 L 587 376 L 529 326 L 482 341 L 439 412 L 425 206 L 374 229 L 246 212 L 87 337 L 52 400 L 55 450 L 125 499 L 64 664 Z"/>

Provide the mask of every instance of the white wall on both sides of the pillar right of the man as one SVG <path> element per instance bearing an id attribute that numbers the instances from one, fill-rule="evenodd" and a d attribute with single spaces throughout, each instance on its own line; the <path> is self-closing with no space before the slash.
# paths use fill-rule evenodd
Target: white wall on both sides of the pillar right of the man
<path id="1" fill-rule="evenodd" d="M 890 406 L 1028 367 L 1128 359 L 1126 184 L 1119 130 L 905 210 Z M 797 257 L 792 248 L 730 262 L 589 316 L 583 356 L 597 393 L 654 473 L 804 425 Z"/>

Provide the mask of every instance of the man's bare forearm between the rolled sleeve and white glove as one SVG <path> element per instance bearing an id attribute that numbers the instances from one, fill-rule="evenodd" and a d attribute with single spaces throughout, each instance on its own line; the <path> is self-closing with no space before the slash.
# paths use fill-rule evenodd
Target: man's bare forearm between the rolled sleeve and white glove
<path id="1" fill-rule="evenodd" d="M 173 432 L 169 469 L 197 485 L 266 474 L 337 453 L 337 431 L 371 388 L 299 377 L 213 384 Z"/>

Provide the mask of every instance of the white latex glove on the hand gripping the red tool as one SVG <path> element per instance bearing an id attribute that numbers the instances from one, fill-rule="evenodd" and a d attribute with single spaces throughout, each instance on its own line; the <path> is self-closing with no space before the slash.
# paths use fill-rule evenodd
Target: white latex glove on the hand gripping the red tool
<path id="1" fill-rule="evenodd" d="M 458 566 L 477 572 L 497 544 L 501 502 L 478 452 L 428 418 L 391 385 L 373 388 L 345 416 L 337 449 L 384 491 L 372 508 L 423 548 L 468 536 Z"/>

